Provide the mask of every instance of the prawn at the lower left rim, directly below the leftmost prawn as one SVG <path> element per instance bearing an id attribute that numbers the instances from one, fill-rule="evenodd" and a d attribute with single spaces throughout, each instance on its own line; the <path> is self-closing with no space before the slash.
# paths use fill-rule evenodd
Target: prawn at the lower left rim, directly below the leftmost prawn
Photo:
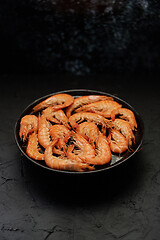
<path id="1" fill-rule="evenodd" d="M 29 135 L 26 153 L 35 160 L 44 160 L 44 154 L 39 152 L 37 133 Z"/>

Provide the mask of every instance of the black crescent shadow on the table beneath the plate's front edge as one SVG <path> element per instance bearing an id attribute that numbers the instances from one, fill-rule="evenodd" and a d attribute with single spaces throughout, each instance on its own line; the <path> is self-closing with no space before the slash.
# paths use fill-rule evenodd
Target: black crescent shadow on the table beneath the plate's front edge
<path id="1" fill-rule="evenodd" d="M 57 174 L 23 161 L 26 181 L 36 198 L 61 204 L 97 204 L 134 190 L 143 176 L 142 153 L 125 163 L 96 174 Z"/>

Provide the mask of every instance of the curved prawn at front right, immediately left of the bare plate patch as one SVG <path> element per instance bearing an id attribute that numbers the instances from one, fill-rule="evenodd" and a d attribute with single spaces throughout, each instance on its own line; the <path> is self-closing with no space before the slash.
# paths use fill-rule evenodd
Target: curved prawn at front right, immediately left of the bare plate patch
<path id="1" fill-rule="evenodd" d="M 104 165 L 111 161 L 112 154 L 107 138 L 100 133 L 96 148 L 96 155 L 86 159 L 86 163 L 94 165 Z"/>

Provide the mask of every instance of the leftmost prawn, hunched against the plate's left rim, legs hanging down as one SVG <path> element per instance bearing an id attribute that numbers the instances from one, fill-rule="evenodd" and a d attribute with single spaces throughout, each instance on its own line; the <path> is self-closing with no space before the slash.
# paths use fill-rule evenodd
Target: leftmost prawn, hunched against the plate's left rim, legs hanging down
<path id="1" fill-rule="evenodd" d="M 20 122 L 20 139 L 24 142 L 28 135 L 38 130 L 38 118 L 35 115 L 25 115 Z"/>

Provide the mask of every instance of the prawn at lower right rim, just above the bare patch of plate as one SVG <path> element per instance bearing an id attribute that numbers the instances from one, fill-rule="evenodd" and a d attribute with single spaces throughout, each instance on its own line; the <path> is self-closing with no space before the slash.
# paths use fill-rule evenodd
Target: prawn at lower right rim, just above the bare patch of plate
<path id="1" fill-rule="evenodd" d="M 114 153 L 123 153 L 128 150 L 127 139 L 116 129 L 110 130 L 108 141 L 111 151 Z"/>

